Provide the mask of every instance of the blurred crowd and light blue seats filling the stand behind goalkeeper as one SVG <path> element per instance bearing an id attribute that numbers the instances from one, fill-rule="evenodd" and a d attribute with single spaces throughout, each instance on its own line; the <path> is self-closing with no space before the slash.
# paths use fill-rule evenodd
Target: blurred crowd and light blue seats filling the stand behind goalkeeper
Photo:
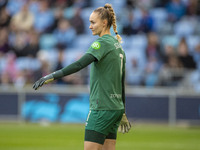
<path id="1" fill-rule="evenodd" d="M 107 2 L 123 38 L 127 85 L 200 91 L 199 0 L 1 0 L 0 84 L 23 87 L 79 59 L 97 38 L 89 16 Z M 88 84 L 88 70 L 53 84 Z"/>

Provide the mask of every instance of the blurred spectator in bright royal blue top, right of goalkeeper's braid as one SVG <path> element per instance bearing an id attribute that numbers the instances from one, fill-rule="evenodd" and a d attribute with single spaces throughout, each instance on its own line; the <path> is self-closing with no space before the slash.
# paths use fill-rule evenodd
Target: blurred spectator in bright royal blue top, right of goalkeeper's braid
<path id="1" fill-rule="evenodd" d="M 138 27 L 139 32 L 148 33 L 154 30 L 154 20 L 149 14 L 149 11 L 145 8 L 142 10 L 142 18 Z"/>

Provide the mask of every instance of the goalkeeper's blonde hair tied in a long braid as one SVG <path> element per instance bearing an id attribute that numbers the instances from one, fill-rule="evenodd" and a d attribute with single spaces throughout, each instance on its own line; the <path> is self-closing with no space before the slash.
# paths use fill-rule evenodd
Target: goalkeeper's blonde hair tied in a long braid
<path id="1" fill-rule="evenodd" d="M 117 19 L 116 19 L 114 9 L 112 8 L 112 5 L 107 3 L 104 5 L 104 7 L 99 7 L 95 9 L 94 12 L 98 12 L 102 20 L 104 19 L 108 20 L 108 28 L 113 26 L 113 30 L 116 34 L 117 40 L 120 43 L 122 43 L 122 38 L 117 32 L 117 23 L 116 23 Z"/>

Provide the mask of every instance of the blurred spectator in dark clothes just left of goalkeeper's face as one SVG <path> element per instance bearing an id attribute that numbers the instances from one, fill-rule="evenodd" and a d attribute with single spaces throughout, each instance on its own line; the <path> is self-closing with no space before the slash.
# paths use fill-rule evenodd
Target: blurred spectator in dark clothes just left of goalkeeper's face
<path id="1" fill-rule="evenodd" d="M 73 27 L 76 30 L 77 34 L 83 34 L 85 31 L 85 25 L 83 22 L 83 19 L 81 17 L 81 9 L 80 8 L 76 8 L 76 12 L 75 15 L 72 17 L 72 19 L 70 20 L 71 24 L 73 24 Z"/>

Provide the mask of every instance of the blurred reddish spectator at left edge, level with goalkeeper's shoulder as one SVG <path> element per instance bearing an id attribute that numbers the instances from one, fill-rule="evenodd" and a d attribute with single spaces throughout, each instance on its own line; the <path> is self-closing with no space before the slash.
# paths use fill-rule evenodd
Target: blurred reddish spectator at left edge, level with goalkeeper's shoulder
<path id="1" fill-rule="evenodd" d="M 7 28 L 0 28 L 0 58 L 10 50 Z"/>

